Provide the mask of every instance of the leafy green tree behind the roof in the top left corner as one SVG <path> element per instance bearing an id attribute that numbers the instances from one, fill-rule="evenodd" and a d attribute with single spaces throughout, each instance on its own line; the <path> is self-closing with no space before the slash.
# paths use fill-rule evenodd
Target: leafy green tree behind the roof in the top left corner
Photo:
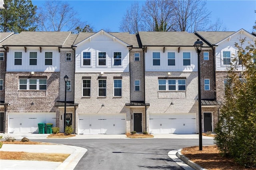
<path id="1" fill-rule="evenodd" d="M 36 30 L 36 6 L 31 0 L 4 0 L 6 9 L 0 10 L 0 31 L 20 33 Z"/>

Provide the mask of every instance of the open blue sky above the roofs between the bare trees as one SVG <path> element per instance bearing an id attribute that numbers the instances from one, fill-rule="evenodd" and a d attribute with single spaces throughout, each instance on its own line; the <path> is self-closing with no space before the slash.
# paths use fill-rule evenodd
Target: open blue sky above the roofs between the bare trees
<path id="1" fill-rule="evenodd" d="M 81 21 L 93 26 L 94 32 L 101 29 L 120 32 L 119 24 L 127 8 L 134 0 L 68 0 L 70 6 L 79 14 Z M 143 0 L 138 1 L 144 4 Z M 32 0 L 33 5 L 43 6 L 44 0 Z M 256 0 L 207 0 L 206 8 L 212 12 L 211 20 L 220 18 L 226 24 L 227 31 L 241 28 L 252 32 L 256 21 Z"/>

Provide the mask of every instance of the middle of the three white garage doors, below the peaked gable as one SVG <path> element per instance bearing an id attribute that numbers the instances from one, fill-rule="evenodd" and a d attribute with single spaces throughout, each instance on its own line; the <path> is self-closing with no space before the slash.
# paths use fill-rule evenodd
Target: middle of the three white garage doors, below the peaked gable
<path id="1" fill-rule="evenodd" d="M 79 114 L 78 134 L 124 134 L 126 114 Z"/>

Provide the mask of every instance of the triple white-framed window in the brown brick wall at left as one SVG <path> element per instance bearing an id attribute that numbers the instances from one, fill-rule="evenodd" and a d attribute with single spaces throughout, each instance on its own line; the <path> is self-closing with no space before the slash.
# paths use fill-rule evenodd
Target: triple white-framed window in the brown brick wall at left
<path id="1" fill-rule="evenodd" d="M 46 90 L 46 79 L 19 79 L 19 90 Z"/>

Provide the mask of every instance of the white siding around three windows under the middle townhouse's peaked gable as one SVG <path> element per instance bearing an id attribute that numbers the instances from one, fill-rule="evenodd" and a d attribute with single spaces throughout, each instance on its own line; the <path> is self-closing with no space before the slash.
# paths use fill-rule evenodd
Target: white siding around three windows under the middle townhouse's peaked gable
<path id="1" fill-rule="evenodd" d="M 83 65 L 83 52 L 91 53 L 91 65 Z M 106 52 L 106 66 L 98 65 L 98 52 Z M 121 65 L 114 65 L 114 52 L 121 52 Z M 109 36 L 97 35 L 76 48 L 76 72 L 128 72 L 129 49 Z"/>

